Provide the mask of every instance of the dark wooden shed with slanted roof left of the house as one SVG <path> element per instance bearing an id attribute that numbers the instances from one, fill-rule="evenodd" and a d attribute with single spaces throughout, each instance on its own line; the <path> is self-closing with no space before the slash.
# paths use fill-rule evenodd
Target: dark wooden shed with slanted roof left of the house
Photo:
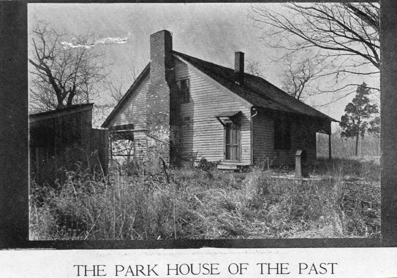
<path id="1" fill-rule="evenodd" d="M 93 104 L 29 115 L 30 172 L 38 184 L 65 180 L 65 170 L 95 167 L 106 174 L 108 131 L 92 128 Z"/>

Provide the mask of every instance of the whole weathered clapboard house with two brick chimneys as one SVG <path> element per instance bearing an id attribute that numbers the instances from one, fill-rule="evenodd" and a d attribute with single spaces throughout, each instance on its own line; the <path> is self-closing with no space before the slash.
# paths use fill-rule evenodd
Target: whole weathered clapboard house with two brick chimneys
<path id="1" fill-rule="evenodd" d="M 150 36 L 150 63 L 102 127 L 130 132 L 135 158 L 236 168 L 261 160 L 293 165 L 297 150 L 314 162 L 316 132 L 330 135 L 331 121 L 245 73 L 244 53 L 235 53 L 234 69 L 223 67 L 173 51 L 163 30 Z"/>

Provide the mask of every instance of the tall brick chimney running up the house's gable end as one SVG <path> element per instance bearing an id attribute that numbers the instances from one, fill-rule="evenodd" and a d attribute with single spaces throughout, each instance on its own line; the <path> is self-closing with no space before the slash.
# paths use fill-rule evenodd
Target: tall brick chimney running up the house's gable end
<path id="1" fill-rule="evenodd" d="M 170 84 L 175 83 L 172 35 L 162 30 L 150 36 L 150 85 L 146 95 L 147 159 L 170 159 Z"/>

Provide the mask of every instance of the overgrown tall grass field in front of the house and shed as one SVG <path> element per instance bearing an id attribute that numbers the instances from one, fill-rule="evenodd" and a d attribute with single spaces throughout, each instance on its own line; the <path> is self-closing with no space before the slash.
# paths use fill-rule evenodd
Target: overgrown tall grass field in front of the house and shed
<path id="1" fill-rule="evenodd" d="M 245 173 L 199 168 L 127 175 L 69 171 L 62 186 L 33 184 L 30 238 L 225 239 L 379 237 L 379 157 L 319 159 L 322 180 L 272 178 L 288 169 Z"/>

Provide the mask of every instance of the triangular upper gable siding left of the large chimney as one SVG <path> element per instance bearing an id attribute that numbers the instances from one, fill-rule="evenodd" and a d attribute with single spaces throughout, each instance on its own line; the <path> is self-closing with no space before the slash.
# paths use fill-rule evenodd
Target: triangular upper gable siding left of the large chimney
<path id="1" fill-rule="evenodd" d="M 148 88 L 149 78 L 146 77 L 114 118 L 112 126 L 133 123 L 134 129 L 146 128 L 146 93 Z"/>

